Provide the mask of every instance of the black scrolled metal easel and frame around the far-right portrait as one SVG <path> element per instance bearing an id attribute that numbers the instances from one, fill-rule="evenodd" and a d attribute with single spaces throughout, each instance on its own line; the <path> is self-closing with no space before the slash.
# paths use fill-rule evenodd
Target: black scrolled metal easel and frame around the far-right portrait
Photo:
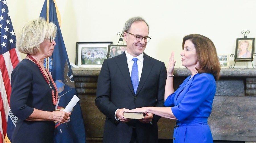
<path id="1" fill-rule="evenodd" d="M 239 41 L 239 40 L 251 40 L 251 39 L 255 39 L 255 38 L 250 38 L 250 39 L 247 38 L 247 34 L 250 33 L 249 30 L 247 30 L 247 31 L 244 31 L 244 30 L 243 30 L 241 33 L 244 34 L 244 36 L 243 36 L 243 38 L 237 39 L 236 46 L 238 46 L 238 41 Z M 246 33 L 247 33 L 247 34 L 246 34 Z M 254 49 L 254 40 L 253 40 L 253 44 L 252 44 L 252 49 Z M 245 62 L 245 61 L 246 61 L 246 67 L 247 67 L 247 68 L 248 68 L 248 62 L 251 62 L 252 66 L 253 66 L 252 61 L 254 60 L 254 57 L 256 56 L 256 53 L 253 53 L 253 57 L 251 57 L 250 59 L 248 59 L 248 58 L 246 58 L 246 59 L 239 58 L 239 59 L 238 59 L 238 56 L 236 56 L 236 55 L 237 55 L 237 50 L 236 50 L 236 54 L 231 54 L 231 55 L 230 55 L 230 57 L 233 57 L 233 56 L 234 56 L 234 62 L 235 62 L 235 64 L 234 64 L 233 67 L 232 67 L 232 65 L 229 66 L 229 68 L 234 68 L 235 65 L 236 65 L 236 62 Z M 256 65 L 254 65 L 254 66 L 256 67 Z M 253 68 L 254 68 L 254 66 L 253 66 Z"/>

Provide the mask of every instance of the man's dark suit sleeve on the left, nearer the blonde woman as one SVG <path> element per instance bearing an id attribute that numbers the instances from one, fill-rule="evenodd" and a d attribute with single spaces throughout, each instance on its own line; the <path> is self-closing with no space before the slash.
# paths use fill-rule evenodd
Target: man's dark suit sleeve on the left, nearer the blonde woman
<path id="1" fill-rule="evenodd" d="M 98 84 L 96 90 L 95 104 L 108 119 L 113 123 L 117 123 L 115 120 L 115 111 L 118 109 L 111 102 L 111 81 L 110 81 L 110 69 L 108 67 L 108 61 L 104 60 L 100 74 L 98 77 Z"/>

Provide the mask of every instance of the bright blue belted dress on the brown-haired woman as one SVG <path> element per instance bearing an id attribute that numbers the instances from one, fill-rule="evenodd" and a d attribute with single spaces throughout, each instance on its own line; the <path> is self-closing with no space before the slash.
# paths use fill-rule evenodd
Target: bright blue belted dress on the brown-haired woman
<path id="1" fill-rule="evenodd" d="M 213 142 L 207 118 L 212 110 L 216 82 L 210 73 L 187 77 L 165 101 L 178 119 L 174 128 L 174 142 Z"/>

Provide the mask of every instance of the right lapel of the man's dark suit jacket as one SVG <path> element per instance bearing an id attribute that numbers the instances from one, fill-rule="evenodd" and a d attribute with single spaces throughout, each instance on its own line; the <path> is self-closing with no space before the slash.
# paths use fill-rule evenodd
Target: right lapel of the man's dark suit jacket
<path id="1" fill-rule="evenodd" d="M 141 73 L 141 79 L 140 79 L 140 82 L 139 82 L 139 86 L 137 88 L 137 92 L 136 92 L 136 95 L 140 92 L 141 88 L 144 86 L 144 84 L 146 83 L 146 80 L 148 78 L 148 75 L 149 73 L 151 72 L 151 69 L 153 67 L 153 61 L 150 60 L 151 57 L 149 57 L 148 55 L 146 55 L 144 53 L 144 56 L 143 56 L 143 68 L 142 68 L 142 73 Z"/>

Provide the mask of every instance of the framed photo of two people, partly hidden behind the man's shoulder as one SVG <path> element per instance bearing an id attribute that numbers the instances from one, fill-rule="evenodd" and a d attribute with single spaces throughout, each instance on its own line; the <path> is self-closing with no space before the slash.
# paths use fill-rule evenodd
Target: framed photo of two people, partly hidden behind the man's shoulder
<path id="1" fill-rule="evenodd" d="M 113 58 L 122 54 L 126 50 L 126 45 L 108 45 L 108 58 Z"/>

